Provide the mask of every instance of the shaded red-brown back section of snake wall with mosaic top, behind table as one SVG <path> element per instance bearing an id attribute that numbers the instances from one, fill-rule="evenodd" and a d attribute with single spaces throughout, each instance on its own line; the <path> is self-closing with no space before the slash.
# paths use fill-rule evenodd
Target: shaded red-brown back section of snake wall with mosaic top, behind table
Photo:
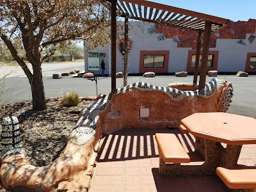
<path id="1" fill-rule="evenodd" d="M 212 79 L 205 84 L 204 90 L 183 92 L 147 83 L 133 84 L 128 89 L 118 90 L 118 94 L 99 113 L 103 132 L 177 127 L 182 118 L 196 112 L 225 112 L 232 93 L 230 86 L 220 79 Z M 225 99 L 221 99 L 226 93 Z M 141 108 L 149 109 L 149 117 L 140 117 Z"/>

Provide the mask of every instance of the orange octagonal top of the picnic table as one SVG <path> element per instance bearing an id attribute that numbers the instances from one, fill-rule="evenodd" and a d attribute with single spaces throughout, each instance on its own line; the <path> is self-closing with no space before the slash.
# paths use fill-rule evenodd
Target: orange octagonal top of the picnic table
<path id="1" fill-rule="evenodd" d="M 200 138 L 228 145 L 256 144 L 256 119 L 230 113 L 194 113 L 181 124 Z"/>

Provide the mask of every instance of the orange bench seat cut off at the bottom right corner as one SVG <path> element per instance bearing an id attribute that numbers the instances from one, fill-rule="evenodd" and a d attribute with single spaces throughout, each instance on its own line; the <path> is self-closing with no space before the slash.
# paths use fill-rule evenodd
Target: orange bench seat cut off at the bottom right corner
<path id="1" fill-rule="evenodd" d="M 218 167 L 216 173 L 230 189 L 256 189 L 256 167 Z"/>

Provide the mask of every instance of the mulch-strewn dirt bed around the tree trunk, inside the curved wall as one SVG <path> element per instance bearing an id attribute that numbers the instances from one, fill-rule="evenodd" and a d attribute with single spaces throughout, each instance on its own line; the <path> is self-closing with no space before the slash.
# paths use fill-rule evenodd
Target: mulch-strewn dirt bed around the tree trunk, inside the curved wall
<path id="1" fill-rule="evenodd" d="M 86 106 L 94 98 L 80 98 L 79 106 Z M 57 159 L 63 152 L 67 138 L 77 122 L 78 114 L 72 108 L 60 107 L 60 98 L 47 99 L 47 109 L 36 111 L 31 102 L 19 102 L 0 106 L 0 122 L 4 116 L 19 119 L 24 150 L 28 161 L 35 166 L 45 166 Z M 0 133 L 1 133 L 0 125 Z M 1 135 L 0 135 L 1 140 Z M 0 192 L 6 191 L 1 187 Z"/>

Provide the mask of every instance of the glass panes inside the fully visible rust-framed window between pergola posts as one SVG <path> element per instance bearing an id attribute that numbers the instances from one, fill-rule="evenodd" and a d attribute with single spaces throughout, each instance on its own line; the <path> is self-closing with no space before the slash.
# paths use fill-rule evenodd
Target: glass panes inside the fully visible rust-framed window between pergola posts
<path id="1" fill-rule="evenodd" d="M 159 54 L 145 54 L 144 55 L 144 68 L 163 68 L 164 55 Z"/>

